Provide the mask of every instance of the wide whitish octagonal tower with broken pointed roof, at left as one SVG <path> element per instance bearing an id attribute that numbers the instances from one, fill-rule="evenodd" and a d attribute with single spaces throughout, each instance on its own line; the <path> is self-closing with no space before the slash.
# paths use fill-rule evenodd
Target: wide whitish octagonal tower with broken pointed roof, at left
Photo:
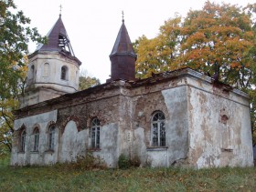
<path id="1" fill-rule="evenodd" d="M 28 56 L 27 86 L 20 107 L 37 104 L 79 88 L 81 62 L 74 55 L 61 15 L 48 32 L 48 43 Z"/>

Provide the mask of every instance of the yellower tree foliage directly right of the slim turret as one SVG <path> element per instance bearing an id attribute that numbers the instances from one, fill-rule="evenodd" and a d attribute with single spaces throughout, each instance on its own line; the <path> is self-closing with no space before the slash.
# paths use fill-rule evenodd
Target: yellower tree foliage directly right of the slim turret
<path id="1" fill-rule="evenodd" d="M 176 68 L 180 38 L 181 17 L 176 16 L 161 26 L 160 33 L 153 39 L 145 35 L 135 41 L 134 50 L 137 54 L 136 77 L 146 78 L 152 73 L 159 73 Z"/>

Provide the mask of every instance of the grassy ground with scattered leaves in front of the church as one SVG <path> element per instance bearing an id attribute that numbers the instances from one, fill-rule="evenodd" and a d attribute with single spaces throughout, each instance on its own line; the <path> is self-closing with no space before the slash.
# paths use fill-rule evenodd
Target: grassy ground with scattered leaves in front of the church
<path id="1" fill-rule="evenodd" d="M 256 191 L 256 168 L 0 167 L 0 191 Z"/>

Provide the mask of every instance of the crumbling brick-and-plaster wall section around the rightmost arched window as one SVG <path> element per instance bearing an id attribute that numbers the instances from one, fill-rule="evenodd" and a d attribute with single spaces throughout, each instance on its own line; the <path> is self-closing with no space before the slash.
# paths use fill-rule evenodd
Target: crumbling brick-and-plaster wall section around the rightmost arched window
<path id="1" fill-rule="evenodd" d="M 139 88 L 137 88 L 139 89 Z M 187 88 L 174 79 L 155 86 L 133 90 L 133 156 L 143 166 L 169 167 L 187 158 Z M 165 114 L 165 147 L 152 146 L 152 115 Z"/>

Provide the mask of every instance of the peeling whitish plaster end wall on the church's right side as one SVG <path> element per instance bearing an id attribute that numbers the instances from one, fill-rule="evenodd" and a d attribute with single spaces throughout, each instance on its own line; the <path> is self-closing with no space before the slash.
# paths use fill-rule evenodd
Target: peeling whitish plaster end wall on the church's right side
<path id="1" fill-rule="evenodd" d="M 204 85 L 205 90 L 210 86 Z M 246 98 L 216 95 L 188 86 L 189 161 L 194 167 L 253 165 L 250 110 Z M 241 101 L 241 103 L 239 102 Z M 226 123 L 221 116 L 229 117 Z"/>

